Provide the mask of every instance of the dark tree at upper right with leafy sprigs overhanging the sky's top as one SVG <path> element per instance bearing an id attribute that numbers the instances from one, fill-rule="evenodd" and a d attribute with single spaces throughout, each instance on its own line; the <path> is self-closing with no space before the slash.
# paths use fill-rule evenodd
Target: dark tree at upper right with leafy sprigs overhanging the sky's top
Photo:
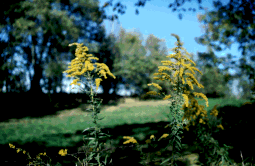
<path id="1" fill-rule="evenodd" d="M 148 0 L 149 1 L 149 0 Z M 191 2 L 191 0 L 188 0 Z M 187 2 L 185 0 L 175 0 L 174 3 L 169 4 L 169 8 L 172 8 L 172 11 L 186 11 L 185 8 L 178 9 L 184 3 Z M 204 10 L 201 6 L 202 0 L 197 0 L 199 4 L 199 9 Z M 145 6 L 146 0 L 138 0 L 137 3 L 135 3 L 135 6 Z M 215 7 L 215 11 L 211 11 L 205 15 L 200 15 L 200 21 L 204 22 L 205 24 L 208 24 L 206 35 L 200 37 L 197 39 L 199 41 L 198 43 L 204 44 L 204 45 L 210 45 L 215 49 L 216 51 L 221 51 L 222 48 L 220 45 L 225 45 L 226 48 L 230 48 L 233 44 L 233 37 L 236 39 L 236 41 L 240 44 L 240 49 L 242 50 L 242 55 L 247 55 L 247 52 L 251 52 L 250 55 L 250 61 L 255 61 L 255 55 L 254 55 L 254 13 L 253 10 L 255 9 L 255 3 L 254 0 L 230 0 L 226 5 L 222 5 L 221 0 L 213 0 L 213 4 Z M 113 6 L 112 0 L 108 1 L 104 4 L 103 8 L 107 6 Z M 118 13 L 124 14 L 125 13 L 126 6 L 121 4 L 120 2 L 115 3 L 113 6 L 113 11 L 117 10 Z M 189 11 L 193 10 L 193 12 L 196 11 L 195 8 L 189 8 Z M 136 14 L 139 14 L 138 9 L 136 9 Z M 117 15 L 114 15 L 112 19 L 115 19 Z M 182 19 L 182 14 L 179 13 L 179 19 Z M 215 44 L 214 42 L 219 41 L 219 44 Z M 225 48 L 225 49 L 226 49 Z M 230 54 L 229 54 L 230 55 Z M 228 56 L 229 56 L 228 55 Z M 231 55 L 230 55 L 231 57 Z M 226 58 L 221 58 L 220 62 L 222 64 L 225 63 Z M 229 59 L 229 58 L 228 58 Z M 231 59 L 231 58 L 230 58 Z M 244 58 L 246 59 L 246 58 Z M 243 61 L 244 59 L 240 60 Z M 235 64 L 235 61 L 231 61 L 231 64 Z M 241 70 L 244 70 L 245 74 L 249 77 L 250 83 L 253 84 L 251 87 L 255 87 L 255 75 L 254 75 L 254 66 L 251 64 L 240 64 L 239 67 Z M 231 67 L 229 67 L 231 68 Z M 243 74 L 244 74 L 243 73 Z M 240 72 L 238 75 L 234 77 L 240 77 Z"/>

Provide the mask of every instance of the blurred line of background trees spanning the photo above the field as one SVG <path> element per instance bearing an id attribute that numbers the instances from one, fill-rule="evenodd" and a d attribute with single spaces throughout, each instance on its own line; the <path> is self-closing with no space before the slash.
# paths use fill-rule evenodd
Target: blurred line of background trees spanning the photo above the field
<path id="1" fill-rule="evenodd" d="M 177 0 L 176 2 L 179 3 Z M 198 75 L 198 81 L 205 87 L 196 91 L 212 97 L 229 96 L 232 95 L 230 85 L 236 78 L 241 80 L 239 87 L 244 90 L 243 97 L 250 97 L 251 91 L 255 89 L 255 59 L 252 54 L 254 24 L 251 19 L 254 17 L 252 14 L 254 2 L 246 2 L 247 4 L 243 5 L 230 1 L 225 6 L 220 1 L 215 2 L 215 11 L 198 15 L 198 20 L 205 24 L 203 26 L 205 33 L 196 41 L 206 45 L 208 51 L 199 52 L 196 61 L 194 55 L 192 57 L 203 72 L 202 76 Z M 182 4 L 179 3 L 176 8 Z M 57 93 L 58 87 L 63 92 L 65 77 L 62 72 L 67 69 L 66 62 L 75 58 L 75 48 L 68 47 L 68 44 L 79 40 L 79 43 L 84 43 L 89 48 L 88 53 L 98 57 L 98 62 L 105 63 L 116 76 L 116 79 L 108 78 L 102 82 L 104 94 L 109 94 L 110 89 L 116 94 L 119 85 L 124 84 L 126 89 L 132 88 L 136 94 L 141 95 L 153 90 L 151 89 L 153 87 L 147 86 L 151 82 L 159 83 L 164 92 L 171 94 L 170 83 L 162 84 L 161 81 L 153 79 L 157 67 L 168 55 L 165 42 L 151 34 L 146 39 L 146 44 L 142 45 L 143 39 L 139 32 L 128 33 L 123 28 L 116 34 L 118 37 L 114 34 L 106 36 L 103 20 L 114 21 L 118 18 L 105 14 L 104 10 L 108 6 L 110 3 L 99 7 L 97 0 L 3 2 L 0 6 L 4 18 L 0 22 L 2 33 L 0 42 L 3 48 L 0 57 L 0 91 L 2 92 L 3 87 L 6 86 L 7 92 L 39 94 L 43 93 L 42 88 L 45 88 Z M 118 7 L 120 6 L 119 3 Z M 4 40 L 3 36 L 7 37 L 7 40 Z M 230 54 L 227 57 L 217 58 L 214 53 L 223 50 L 221 47 L 224 45 L 230 47 L 233 43 L 231 37 L 237 39 L 240 49 L 243 50 L 239 65 Z M 216 45 L 217 41 L 220 44 Z M 14 54 L 22 57 L 24 63 L 18 65 Z M 248 55 L 250 60 L 246 60 Z M 219 64 L 223 64 L 225 68 L 219 69 L 217 67 Z M 238 69 L 239 72 L 231 75 L 228 72 L 229 68 Z M 17 70 L 19 72 L 14 74 Z M 27 73 L 30 89 L 25 84 Z"/>

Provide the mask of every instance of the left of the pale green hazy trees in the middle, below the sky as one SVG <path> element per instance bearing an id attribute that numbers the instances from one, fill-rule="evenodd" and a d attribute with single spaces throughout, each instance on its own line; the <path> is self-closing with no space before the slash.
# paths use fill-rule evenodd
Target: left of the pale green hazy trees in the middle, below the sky
<path id="1" fill-rule="evenodd" d="M 116 45 L 120 50 L 120 55 L 116 57 L 114 74 L 122 76 L 122 83 L 125 88 L 130 90 L 132 84 L 137 84 L 140 80 L 138 77 L 145 76 L 141 72 L 144 63 L 142 62 L 146 50 L 141 44 L 141 34 L 126 33 L 123 28 L 119 32 L 119 38 Z"/>

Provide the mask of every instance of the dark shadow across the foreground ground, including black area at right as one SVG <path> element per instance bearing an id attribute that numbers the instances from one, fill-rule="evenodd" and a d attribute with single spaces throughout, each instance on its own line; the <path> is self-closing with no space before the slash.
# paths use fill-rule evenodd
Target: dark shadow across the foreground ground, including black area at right
<path id="1" fill-rule="evenodd" d="M 227 144 L 229 146 L 234 147 L 233 149 L 229 150 L 229 157 L 233 159 L 236 163 L 241 163 L 240 157 L 240 150 L 242 151 L 242 155 L 244 157 L 245 163 L 252 163 L 252 156 L 254 156 L 254 152 L 251 149 L 254 149 L 254 135 L 253 135 L 253 119 L 252 119 L 252 108 L 253 105 L 245 105 L 242 107 L 236 106 L 223 106 L 218 107 L 217 110 L 219 111 L 218 118 L 222 118 L 222 125 L 224 126 L 223 131 L 217 130 L 217 132 L 213 133 L 213 137 L 219 141 L 220 146 L 222 147 L 223 144 Z M 102 153 L 102 158 L 106 156 L 106 154 L 110 155 L 110 158 L 113 159 L 113 165 L 123 165 L 130 164 L 130 165 L 141 165 L 141 162 L 147 161 L 146 159 L 141 159 L 142 156 L 136 148 L 129 144 L 123 144 L 126 140 L 123 139 L 123 136 L 135 136 L 136 140 L 140 145 L 143 147 L 142 151 L 146 155 L 151 155 L 154 157 L 153 162 L 147 161 L 147 165 L 155 165 L 157 162 L 162 162 L 163 159 L 169 158 L 172 155 L 172 148 L 171 146 L 167 150 L 163 150 L 163 148 L 168 145 L 168 139 L 162 139 L 155 144 L 158 145 L 156 148 L 148 147 L 145 145 L 145 140 L 149 139 L 150 135 L 154 135 L 156 139 L 160 138 L 164 133 L 170 133 L 168 129 L 164 127 L 169 124 L 168 122 L 158 122 L 158 123 L 145 123 L 145 124 L 124 124 L 124 125 L 117 125 L 114 127 L 107 127 L 105 126 L 102 131 L 104 133 L 109 133 L 112 135 L 110 140 L 113 140 L 112 144 L 110 145 L 110 149 L 104 151 Z M 184 130 L 182 139 L 182 144 L 186 144 L 187 146 L 181 151 L 181 154 L 187 155 L 191 153 L 198 153 L 201 154 L 203 149 L 199 147 L 200 142 L 196 140 L 196 135 L 192 133 L 192 131 L 196 130 L 196 126 L 191 126 L 190 131 L 187 132 Z M 47 134 L 43 135 L 44 140 L 48 141 L 41 141 L 41 140 L 31 140 L 31 142 L 22 142 L 22 138 L 18 138 L 17 140 L 13 140 L 11 143 L 16 145 L 17 148 L 22 148 L 31 154 L 31 157 L 36 157 L 37 154 L 46 152 L 51 159 L 53 159 L 52 164 L 60 162 L 62 165 L 74 165 L 77 163 L 78 160 L 72 156 L 60 156 L 58 152 L 60 149 L 68 149 L 68 154 L 75 154 L 76 157 L 80 159 L 85 158 L 84 153 L 78 153 L 81 150 L 81 147 L 85 144 L 82 140 L 82 131 L 77 130 L 75 134 Z M 214 130 L 216 131 L 216 127 L 214 126 Z M 142 134 L 145 138 L 139 138 L 137 135 Z M 80 137 L 79 140 L 74 141 L 71 137 L 78 136 Z M 68 145 L 65 147 L 58 147 L 58 146 L 48 146 L 49 142 L 56 141 L 56 145 L 60 142 L 66 142 L 69 139 Z M 105 139 L 107 144 L 110 142 L 109 139 Z M 58 143 L 57 143 L 58 142 Z M 132 144 L 132 143 L 131 143 Z M 28 163 L 26 161 L 27 155 L 22 154 L 21 152 L 16 153 L 14 149 L 9 148 L 6 145 L 0 145 L 1 148 L 1 162 L 5 163 L 5 165 L 13 165 L 15 163 Z M 80 150 L 79 150 L 80 149 Z M 156 155 L 157 151 L 161 151 L 162 154 L 160 156 Z M 83 151 L 80 151 L 83 152 Z M 43 158 L 43 157 L 42 157 Z M 247 159 L 247 160 L 246 160 Z M 202 162 L 202 158 L 200 158 L 200 162 Z M 15 162 L 16 161 L 16 162 Z M 180 161 L 181 162 L 181 161 Z M 10 164 L 9 164 L 10 163 Z M 12 163 L 12 164 L 11 164 Z M 2 164 L 0 164 L 2 165 Z M 189 165 L 188 161 L 183 161 L 178 165 Z"/>

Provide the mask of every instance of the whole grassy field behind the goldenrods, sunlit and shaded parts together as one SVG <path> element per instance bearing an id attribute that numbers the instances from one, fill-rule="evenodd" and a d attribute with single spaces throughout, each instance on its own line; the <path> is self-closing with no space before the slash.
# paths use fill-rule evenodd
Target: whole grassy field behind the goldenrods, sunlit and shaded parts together
<path id="1" fill-rule="evenodd" d="M 210 110 L 216 104 L 221 106 L 241 105 L 244 102 L 246 100 L 209 99 L 209 107 L 205 108 L 209 116 Z M 150 135 L 154 134 L 159 138 L 163 134 L 164 126 L 168 124 L 168 118 L 164 114 L 168 114 L 169 104 L 136 106 L 137 103 L 133 103 L 132 107 L 115 107 L 113 111 L 104 111 L 106 107 L 102 109 L 99 117 L 105 118 L 98 123 L 105 133 L 109 131 L 109 134 L 113 135 L 112 145 L 109 144 L 110 140 L 107 140 L 109 147 L 120 146 L 125 141 L 123 136 L 135 137 L 140 144 L 145 144 L 145 140 Z M 199 104 L 205 106 L 205 101 L 199 101 Z M 31 154 L 31 157 L 46 152 L 51 158 L 54 158 L 53 156 L 58 156 L 58 151 L 64 148 L 69 150 L 68 153 L 77 153 L 84 144 L 82 131 L 92 126 L 91 115 L 77 110 L 65 110 L 65 114 L 62 116 L 48 116 L 39 119 L 24 118 L 16 122 L 0 123 L 0 145 L 2 149 L 8 151 L 5 158 L 8 161 L 9 159 L 15 160 L 16 155 L 15 151 L 9 148 L 9 143 L 26 150 Z M 19 158 L 20 156 L 17 155 L 16 157 Z M 81 154 L 79 156 L 82 158 Z M 196 157 L 193 153 L 187 153 L 187 158 L 194 161 Z M 63 160 L 66 164 L 77 162 L 72 157 L 56 160 Z M 17 159 L 17 162 L 21 162 L 21 159 Z"/>

